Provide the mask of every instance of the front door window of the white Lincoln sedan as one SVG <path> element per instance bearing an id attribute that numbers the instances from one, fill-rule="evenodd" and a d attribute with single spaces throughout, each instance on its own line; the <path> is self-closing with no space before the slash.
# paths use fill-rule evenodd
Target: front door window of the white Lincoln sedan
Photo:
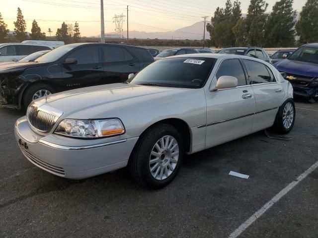
<path id="1" fill-rule="evenodd" d="M 238 86 L 246 85 L 245 73 L 238 59 L 224 60 L 216 74 L 217 79 L 221 76 L 233 76 L 238 79 Z"/>

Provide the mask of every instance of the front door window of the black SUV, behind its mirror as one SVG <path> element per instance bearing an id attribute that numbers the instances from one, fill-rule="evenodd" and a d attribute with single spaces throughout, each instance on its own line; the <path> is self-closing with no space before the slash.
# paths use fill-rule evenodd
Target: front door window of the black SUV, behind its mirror
<path id="1" fill-rule="evenodd" d="M 59 48 L 57 48 L 59 49 Z M 89 46 L 89 47 L 81 47 L 70 55 L 67 58 L 73 58 L 78 60 L 77 64 L 90 64 L 90 63 L 98 63 L 98 47 L 97 46 Z"/>

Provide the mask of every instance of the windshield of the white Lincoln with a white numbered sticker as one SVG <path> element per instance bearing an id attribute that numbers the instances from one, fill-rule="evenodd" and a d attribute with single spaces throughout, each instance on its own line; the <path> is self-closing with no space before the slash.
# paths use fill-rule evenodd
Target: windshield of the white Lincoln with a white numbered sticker
<path id="1" fill-rule="evenodd" d="M 131 80 L 131 84 L 201 88 L 216 62 L 213 58 L 173 58 L 152 63 Z"/>

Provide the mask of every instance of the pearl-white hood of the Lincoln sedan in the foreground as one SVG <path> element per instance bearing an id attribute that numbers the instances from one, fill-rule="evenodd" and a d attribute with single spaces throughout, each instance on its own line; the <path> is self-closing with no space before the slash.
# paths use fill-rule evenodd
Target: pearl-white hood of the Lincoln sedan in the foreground
<path id="1" fill-rule="evenodd" d="M 172 95 L 182 94 L 191 89 L 115 83 L 65 91 L 40 98 L 34 103 L 38 107 L 52 107 L 63 112 L 63 118 L 102 118 L 107 112 L 115 117 L 125 108 L 142 110 L 162 103 L 168 103 Z M 45 106 L 44 106 L 45 105 Z M 115 113 L 117 112 L 117 113 Z"/>

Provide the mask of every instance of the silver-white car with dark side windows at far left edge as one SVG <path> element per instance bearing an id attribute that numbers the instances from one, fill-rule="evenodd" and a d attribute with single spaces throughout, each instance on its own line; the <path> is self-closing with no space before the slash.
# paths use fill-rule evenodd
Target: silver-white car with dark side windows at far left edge
<path id="1" fill-rule="evenodd" d="M 3 43 L 0 44 L 0 62 L 18 61 L 34 52 L 52 49 L 52 46 L 44 45 L 24 43 Z"/>

